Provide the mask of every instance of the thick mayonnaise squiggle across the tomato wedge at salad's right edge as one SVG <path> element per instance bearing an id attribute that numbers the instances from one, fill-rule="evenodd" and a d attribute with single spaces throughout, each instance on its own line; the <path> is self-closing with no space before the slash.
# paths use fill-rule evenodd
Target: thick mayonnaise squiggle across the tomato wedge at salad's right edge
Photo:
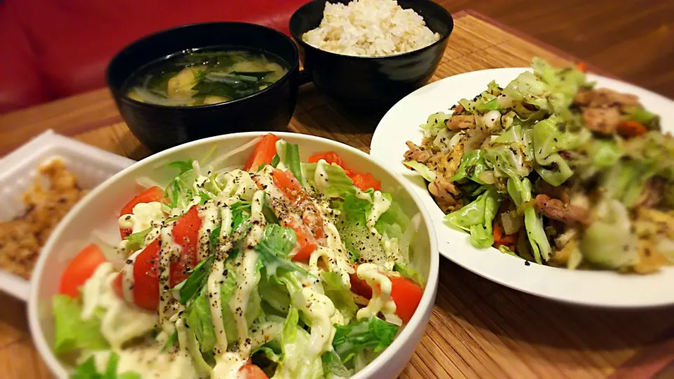
<path id="1" fill-rule="evenodd" d="M 372 298 L 367 306 L 356 313 L 358 321 L 376 317 L 381 312 L 386 321 L 391 324 L 402 325 L 402 320 L 395 314 L 395 302 L 391 299 L 391 280 L 379 272 L 377 265 L 363 263 L 359 265 L 356 274 L 372 288 Z"/>

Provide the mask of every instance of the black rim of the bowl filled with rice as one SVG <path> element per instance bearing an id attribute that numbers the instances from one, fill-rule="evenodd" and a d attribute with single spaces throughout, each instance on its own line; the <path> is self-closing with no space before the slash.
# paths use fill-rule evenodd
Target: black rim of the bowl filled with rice
<path id="1" fill-rule="evenodd" d="M 451 17 L 451 13 L 449 13 L 449 11 L 447 11 L 447 9 L 445 9 L 443 6 L 441 6 L 440 4 L 437 4 L 435 1 L 432 1 L 432 0 L 414 0 L 414 3 L 425 2 L 427 4 L 431 4 L 431 6 L 434 6 L 436 8 L 438 13 L 440 13 L 442 15 L 447 15 L 447 18 L 448 18 L 448 21 L 449 21 L 448 22 L 449 29 L 447 30 L 447 33 L 440 34 L 440 32 L 436 32 L 436 33 L 440 34 L 440 39 L 438 39 L 437 41 L 433 42 L 432 44 L 430 44 L 428 46 L 423 46 L 423 48 L 418 48 L 416 50 L 406 51 L 404 53 L 397 53 L 397 54 L 393 54 L 393 55 L 378 55 L 378 56 L 372 57 L 372 56 L 366 56 L 366 55 L 346 55 L 346 54 L 334 53 L 333 51 L 322 50 L 320 48 L 317 48 L 316 46 L 312 46 L 312 45 L 306 43 L 302 39 L 301 35 L 298 35 L 293 31 L 293 24 L 295 24 L 297 22 L 296 20 L 299 17 L 299 13 L 301 11 L 304 11 L 305 8 L 309 8 L 312 4 L 320 3 L 320 2 L 327 3 L 329 1 L 327 1 L 327 0 L 312 0 L 312 1 L 309 1 L 307 4 L 304 4 L 303 6 L 300 6 L 300 8 L 297 8 L 297 10 L 295 12 L 293 12 L 293 15 L 291 15 L 288 25 L 289 25 L 289 30 L 290 30 L 291 36 L 293 36 L 293 39 L 295 39 L 295 41 L 300 46 L 302 46 L 302 48 L 309 49 L 310 51 L 317 52 L 317 53 L 327 54 L 328 56 L 347 58 L 347 59 L 352 59 L 352 60 L 363 60 L 363 61 L 370 60 L 370 61 L 374 61 L 374 62 L 376 62 L 377 60 L 385 60 L 385 59 L 388 59 L 388 58 L 404 58 L 404 57 L 415 55 L 415 54 L 418 54 L 418 53 L 423 53 L 424 51 L 430 50 L 431 48 L 434 48 L 437 45 L 445 44 L 447 42 L 447 40 L 449 39 L 449 36 L 451 35 L 451 32 L 454 31 L 454 18 Z M 414 9 L 414 8 L 407 8 L 407 9 L 413 9 L 417 14 L 419 14 L 418 11 L 416 11 L 416 9 Z M 421 15 L 421 14 L 419 14 L 419 15 Z M 423 18 L 423 15 L 421 15 L 421 17 Z M 425 19 L 424 19 L 424 22 L 426 22 Z M 428 27 L 428 25 L 426 25 L 426 26 Z M 430 29 L 430 27 L 429 27 L 429 29 Z M 306 31 L 306 32 L 308 32 L 308 31 Z M 304 33 L 306 33 L 306 32 L 304 32 Z"/>

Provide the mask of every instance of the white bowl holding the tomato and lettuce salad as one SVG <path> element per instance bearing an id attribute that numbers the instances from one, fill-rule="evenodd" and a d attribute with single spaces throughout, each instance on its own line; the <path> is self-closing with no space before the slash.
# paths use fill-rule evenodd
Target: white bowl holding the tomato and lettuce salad
<path id="1" fill-rule="evenodd" d="M 143 159 L 117 173 L 96 187 L 77 204 L 51 234 L 40 255 L 32 276 L 28 305 L 30 330 L 37 348 L 51 371 L 59 378 L 66 378 L 69 367 L 52 351 L 53 317 L 51 299 L 58 291 L 62 272 L 69 260 L 81 248 L 98 238 L 119 239 L 117 218 L 128 199 L 138 193 L 138 178 L 148 178 L 160 184 L 168 183 L 173 175 L 165 164 L 176 159 L 201 159 L 215 149 L 211 160 L 227 155 L 222 167 L 244 166 L 253 145 L 249 142 L 264 133 L 238 133 L 206 138 L 168 149 Z M 276 133 L 289 143 L 298 144 L 300 159 L 317 152 L 334 151 L 343 157 L 345 164 L 357 166 L 359 171 L 372 173 L 381 180 L 383 191 L 390 192 L 402 210 L 412 218 L 416 237 L 411 244 L 411 267 L 426 279 L 426 286 L 418 308 L 402 328 L 393 343 L 368 366 L 352 378 L 394 378 L 407 364 L 423 335 L 435 302 L 439 254 L 437 241 L 428 212 L 407 180 L 364 152 L 339 142 L 295 133 Z"/>

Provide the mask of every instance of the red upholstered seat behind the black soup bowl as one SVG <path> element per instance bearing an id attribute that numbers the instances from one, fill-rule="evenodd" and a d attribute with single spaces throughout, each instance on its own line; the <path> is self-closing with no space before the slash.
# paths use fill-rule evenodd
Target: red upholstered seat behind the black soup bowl
<path id="1" fill-rule="evenodd" d="M 0 2 L 0 112 L 105 86 L 126 44 L 194 22 L 255 22 L 288 32 L 308 0 L 4 0 Z"/>

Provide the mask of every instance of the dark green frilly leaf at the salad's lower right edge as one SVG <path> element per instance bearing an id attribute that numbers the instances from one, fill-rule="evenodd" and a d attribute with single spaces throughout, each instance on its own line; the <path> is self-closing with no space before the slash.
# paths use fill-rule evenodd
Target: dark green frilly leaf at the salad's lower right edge
<path id="1" fill-rule="evenodd" d="M 336 325 L 335 328 L 332 346 L 344 363 L 364 350 L 381 352 L 393 342 L 398 332 L 397 326 L 378 317 L 343 326 Z"/>

